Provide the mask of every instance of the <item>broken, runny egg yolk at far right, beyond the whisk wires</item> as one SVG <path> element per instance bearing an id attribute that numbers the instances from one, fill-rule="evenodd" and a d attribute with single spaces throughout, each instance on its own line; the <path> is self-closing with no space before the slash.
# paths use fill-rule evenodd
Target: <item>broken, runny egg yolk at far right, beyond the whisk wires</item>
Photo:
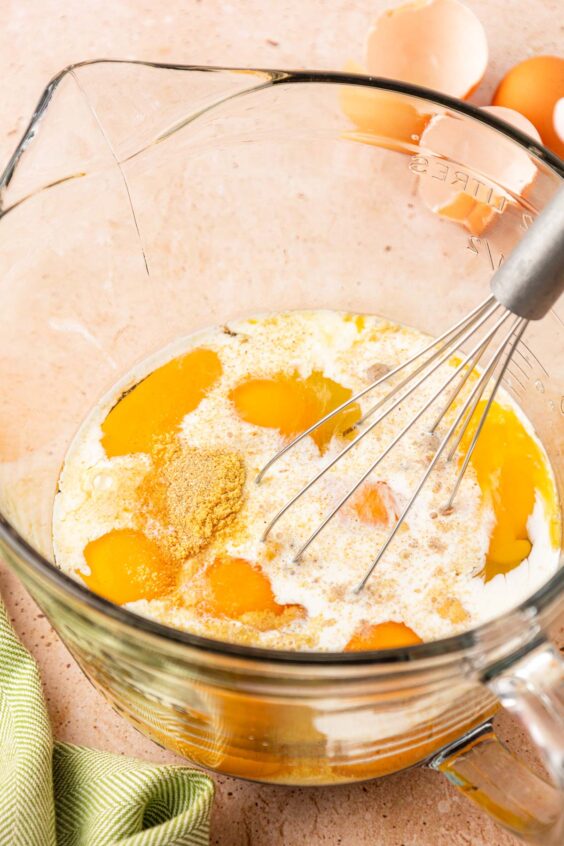
<path id="1" fill-rule="evenodd" d="M 485 401 L 479 403 L 465 436 L 468 448 Z M 543 498 L 551 515 L 551 540 L 559 543 L 560 525 L 554 486 L 539 445 L 527 432 L 512 408 L 493 403 L 472 453 L 484 501 L 493 508 L 494 527 L 480 575 L 490 581 L 508 573 L 531 551 L 527 521 L 535 505 L 535 492 Z"/>

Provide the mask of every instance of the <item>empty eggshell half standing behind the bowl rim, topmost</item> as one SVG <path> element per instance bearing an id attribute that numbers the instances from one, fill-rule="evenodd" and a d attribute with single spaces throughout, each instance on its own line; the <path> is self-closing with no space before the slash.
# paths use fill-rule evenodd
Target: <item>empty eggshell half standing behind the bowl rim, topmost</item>
<path id="1" fill-rule="evenodd" d="M 453 97 L 468 97 L 476 89 L 487 62 L 482 24 L 459 0 L 416 0 L 389 9 L 368 35 L 368 73 Z"/>

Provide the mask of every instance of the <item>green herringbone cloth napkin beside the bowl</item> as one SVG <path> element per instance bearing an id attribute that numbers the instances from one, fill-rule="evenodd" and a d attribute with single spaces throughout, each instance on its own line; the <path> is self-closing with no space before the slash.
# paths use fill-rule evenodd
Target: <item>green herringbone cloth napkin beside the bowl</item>
<path id="1" fill-rule="evenodd" d="M 213 782 L 54 743 L 37 665 L 0 602 L 0 846 L 203 846 Z"/>

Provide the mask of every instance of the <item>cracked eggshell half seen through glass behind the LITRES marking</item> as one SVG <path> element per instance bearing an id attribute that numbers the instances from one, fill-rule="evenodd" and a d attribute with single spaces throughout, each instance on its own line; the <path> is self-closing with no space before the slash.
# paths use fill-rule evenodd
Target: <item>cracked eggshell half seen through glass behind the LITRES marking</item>
<path id="1" fill-rule="evenodd" d="M 540 141 L 532 123 L 512 109 L 486 106 L 484 111 Z M 454 164 L 444 163 L 436 174 L 420 178 L 419 196 L 431 211 L 473 235 L 481 235 L 505 210 L 500 188 L 519 195 L 535 178 L 536 167 L 525 150 L 502 136 L 493 144 L 491 131 L 477 122 L 437 116 L 424 131 L 421 147 Z"/>

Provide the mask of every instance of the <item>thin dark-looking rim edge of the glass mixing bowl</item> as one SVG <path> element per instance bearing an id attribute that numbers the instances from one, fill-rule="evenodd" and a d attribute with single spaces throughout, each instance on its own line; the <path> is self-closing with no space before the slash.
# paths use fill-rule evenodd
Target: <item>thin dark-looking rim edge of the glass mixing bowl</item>
<path id="1" fill-rule="evenodd" d="M 473 118 L 500 132 L 503 136 L 510 138 L 528 153 L 544 162 L 553 170 L 557 176 L 564 179 L 564 161 L 537 143 L 520 130 L 496 117 L 483 111 L 471 103 L 457 100 L 446 94 L 433 91 L 418 85 L 412 85 L 393 79 L 369 76 L 339 71 L 318 71 L 318 70 L 279 70 L 272 68 L 238 68 L 211 65 L 181 65 L 160 62 L 146 62 L 141 60 L 128 59 L 94 59 L 90 61 L 77 62 L 65 67 L 56 74 L 43 90 L 37 106 L 32 114 L 30 122 L 24 131 L 21 140 L 10 157 L 6 167 L 0 176 L 0 190 L 5 188 L 27 149 L 31 140 L 37 134 L 37 124 L 45 114 L 49 102 L 60 84 L 60 82 L 74 70 L 81 67 L 97 64 L 125 64 L 140 65 L 162 70 L 177 71 L 200 71 L 200 72 L 245 72 L 255 73 L 257 76 L 266 78 L 266 82 L 259 86 L 237 92 L 236 96 L 252 94 L 281 84 L 299 83 L 323 83 L 336 85 L 357 85 L 377 90 L 392 91 L 399 94 L 410 95 L 419 99 L 428 100 L 435 105 L 444 106 L 453 112 Z M 214 108 L 212 105 L 210 108 Z M 19 204 L 19 203 L 18 203 Z M 13 208 L 13 206 L 12 206 Z M 0 219 L 10 209 L 2 210 L 0 203 Z M 246 646 L 236 643 L 228 643 L 213 638 L 202 637 L 190 632 L 167 626 L 149 617 L 143 617 L 129 609 L 115 605 L 104 597 L 90 591 L 86 585 L 64 573 L 62 570 L 41 555 L 31 544 L 29 544 L 20 533 L 0 512 L 0 541 L 13 550 L 13 552 L 27 564 L 31 570 L 42 580 L 52 583 L 63 593 L 69 594 L 79 603 L 99 612 L 103 616 L 110 617 L 116 623 L 125 628 L 141 630 L 144 634 L 157 638 L 161 641 L 173 642 L 188 646 L 192 649 L 201 650 L 206 653 L 218 654 L 224 657 L 238 657 L 250 659 L 256 662 L 269 662 L 274 664 L 293 664 L 312 667 L 317 665 L 385 665 L 405 662 L 418 662 L 436 657 L 444 657 L 449 654 L 457 654 L 467 651 L 479 642 L 483 642 L 488 633 L 494 632 L 504 624 L 510 625 L 512 621 L 530 618 L 531 614 L 538 614 L 546 609 L 559 595 L 564 593 L 564 567 L 560 567 L 556 573 L 537 591 L 525 601 L 510 609 L 499 617 L 481 624 L 458 635 L 451 635 L 427 643 L 415 644 L 413 646 L 396 649 L 372 650 L 366 652 L 293 652 L 289 650 L 265 649 L 263 647 Z"/>

